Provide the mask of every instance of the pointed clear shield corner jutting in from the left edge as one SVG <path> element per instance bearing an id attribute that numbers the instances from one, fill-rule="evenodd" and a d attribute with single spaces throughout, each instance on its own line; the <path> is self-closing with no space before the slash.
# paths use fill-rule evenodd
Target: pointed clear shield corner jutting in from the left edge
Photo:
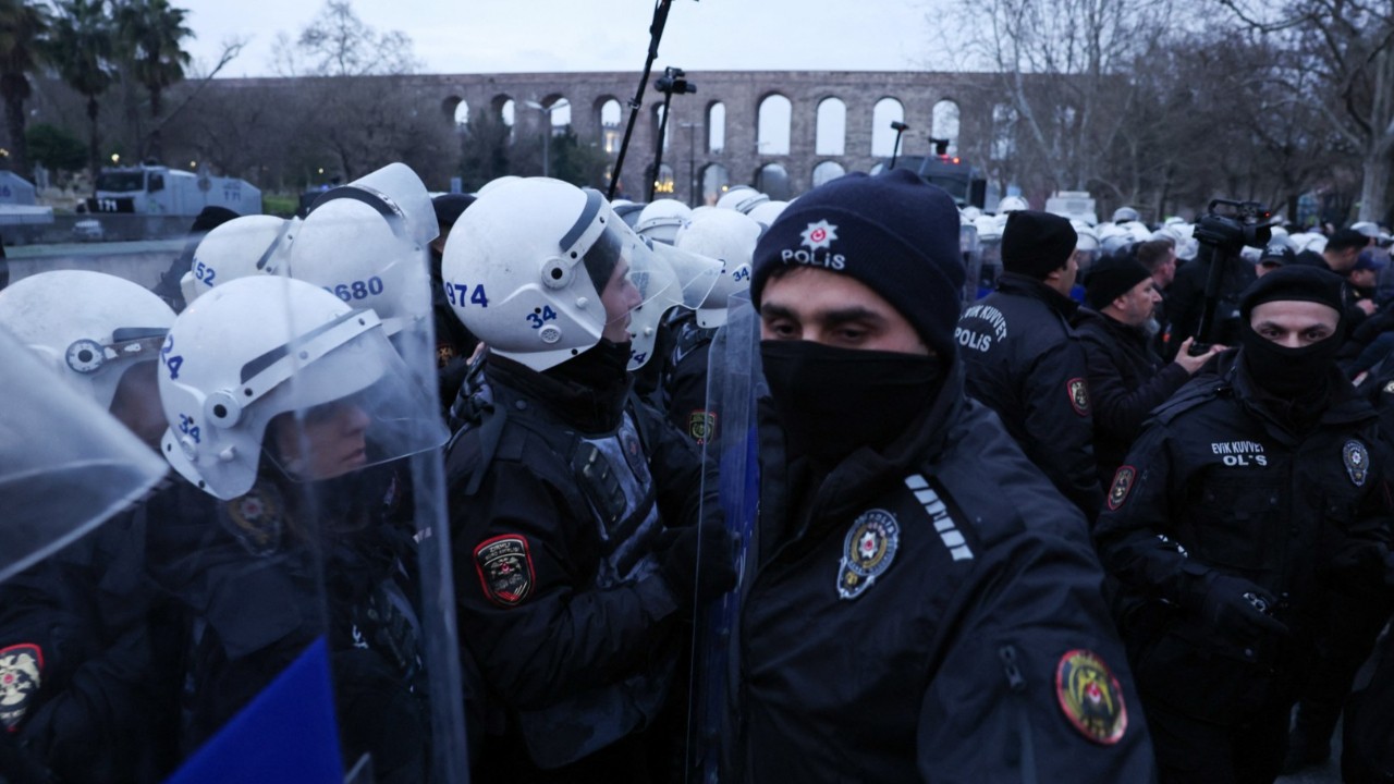
<path id="1" fill-rule="evenodd" d="M 4 582 L 134 504 L 167 466 L 6 329 L 0 364 Z"/>

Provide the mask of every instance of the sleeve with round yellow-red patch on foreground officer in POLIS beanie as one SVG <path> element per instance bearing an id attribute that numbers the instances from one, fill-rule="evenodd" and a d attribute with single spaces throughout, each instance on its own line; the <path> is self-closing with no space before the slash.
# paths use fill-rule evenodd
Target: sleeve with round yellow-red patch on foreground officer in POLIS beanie
<path id="1" fill-rule="evenodd" d="M 1093 552 L 1020 543 L 933 672 L 919 718 L 923 781 L 1154 781 L 1151 744 Z M 969 598 L 969 601 L 973 601 Z M 984 752 L 990 749 L 990 752 Z"/>

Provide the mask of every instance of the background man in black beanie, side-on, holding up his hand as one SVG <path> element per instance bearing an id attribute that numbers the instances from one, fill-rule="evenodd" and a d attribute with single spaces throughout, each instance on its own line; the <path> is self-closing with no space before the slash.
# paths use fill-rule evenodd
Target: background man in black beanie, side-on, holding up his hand
<path id="1" fill-rule="evenodd" d="M 1163 364 L 1149 345 L 1146 325 L 1161 301 L 1154 278 L 1140 261 L 1111 255 L 1094 264 L 1079 310 L 1078 332 L 1089 365 L 1094 403 L 1094 458 L 1107 485 L 1154 407 L 1181 389 L 1224 346 L 1190 356 L 1192 338 L 1177 360 Z"/>

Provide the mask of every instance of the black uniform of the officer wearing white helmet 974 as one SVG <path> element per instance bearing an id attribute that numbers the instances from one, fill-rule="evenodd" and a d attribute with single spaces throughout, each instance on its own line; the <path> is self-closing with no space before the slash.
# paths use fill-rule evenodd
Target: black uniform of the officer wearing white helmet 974
<path id="1" fill-rule="evenodd" d="M 587 377 L 590 353 L 548 374 L 488 356 L 481 413 L 447 452 L 460 639 L 492 735 L 477 781 L 644 781 L 668 763 L 654 725 L 686 696 L 687 642 L 655 543 L 696 522 L 701 463 L 631 395 L 626 357 Z"/>

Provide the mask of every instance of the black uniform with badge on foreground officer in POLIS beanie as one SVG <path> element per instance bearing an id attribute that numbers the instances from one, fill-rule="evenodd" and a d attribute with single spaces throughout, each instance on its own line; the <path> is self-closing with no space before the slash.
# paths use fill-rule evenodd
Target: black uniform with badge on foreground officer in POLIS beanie
<path id="1" fill-rule="evenodd" d="M 824 477 L 761 425 L 742 781 L 1138 781 L 1146 723 L 1079 511 L 962 396 Z"/>

